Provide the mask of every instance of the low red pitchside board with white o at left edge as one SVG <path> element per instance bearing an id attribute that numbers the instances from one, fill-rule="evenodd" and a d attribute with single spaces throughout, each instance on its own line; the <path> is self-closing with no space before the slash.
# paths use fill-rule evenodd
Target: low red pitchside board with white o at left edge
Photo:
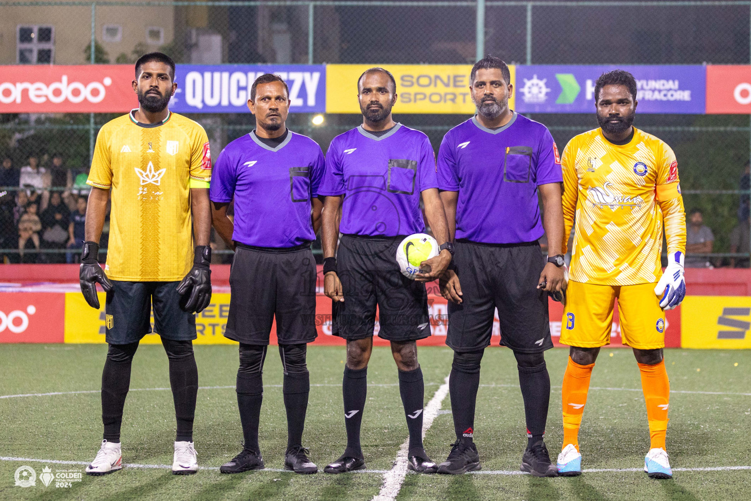
<path id="1" fill-rule="evenodd" d="M 62 343 L 65 294 L 0 294 L 0 343 Z"/>

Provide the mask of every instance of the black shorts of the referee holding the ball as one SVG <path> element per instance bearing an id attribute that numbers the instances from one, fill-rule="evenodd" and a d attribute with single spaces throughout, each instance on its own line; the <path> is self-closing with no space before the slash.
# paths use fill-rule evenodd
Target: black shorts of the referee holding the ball
<path id="1" fill-rule="evenodd" d="M 430 336 L 425 284 L 408 279 L 397 264 L 397 246 L 403 239 L 342 235 L 336 267 L 344 302 L 333 302 L 334 336 L 345 340 L 371 337 L 376 305 L 379 337 L 414 341 Z"/>

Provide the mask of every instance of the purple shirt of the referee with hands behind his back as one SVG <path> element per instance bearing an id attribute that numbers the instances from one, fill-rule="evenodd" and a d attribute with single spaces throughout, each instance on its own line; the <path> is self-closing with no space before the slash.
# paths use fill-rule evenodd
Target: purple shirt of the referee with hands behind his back
<path id="1" fill-rule="evenodd" d="M 276 147 L 255 132 L 229 143 L 211 174 L 210 198 L 234 197 L 232 240 L 257 247 L 294 247 L 315 240 L 310 212 L 324 174 L 321 146 L 288 132 Z"/>

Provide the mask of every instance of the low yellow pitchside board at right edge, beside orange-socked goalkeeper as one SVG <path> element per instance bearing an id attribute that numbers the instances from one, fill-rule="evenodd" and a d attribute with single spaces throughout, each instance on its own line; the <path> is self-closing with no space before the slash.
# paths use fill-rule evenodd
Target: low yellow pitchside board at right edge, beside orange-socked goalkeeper
<path id="1" fill-rule="evenodd" d="M 683 348 L 751 348 L 749 329 L 749 296 L 686 296 L 680 305 Z"/>

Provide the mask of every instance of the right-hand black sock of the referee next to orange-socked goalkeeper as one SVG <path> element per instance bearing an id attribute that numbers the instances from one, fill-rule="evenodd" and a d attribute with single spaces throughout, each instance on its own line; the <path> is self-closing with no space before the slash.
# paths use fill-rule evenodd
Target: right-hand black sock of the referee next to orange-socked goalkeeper
<path id="1" fill-rule="evenodd" d="M 550 376 L 545 362 L 533 367 L 517 366 L 519 386 L 524 399 L 527 448 L 539 442 L 545 433 L 547 406 L 550 403 Z"/>

